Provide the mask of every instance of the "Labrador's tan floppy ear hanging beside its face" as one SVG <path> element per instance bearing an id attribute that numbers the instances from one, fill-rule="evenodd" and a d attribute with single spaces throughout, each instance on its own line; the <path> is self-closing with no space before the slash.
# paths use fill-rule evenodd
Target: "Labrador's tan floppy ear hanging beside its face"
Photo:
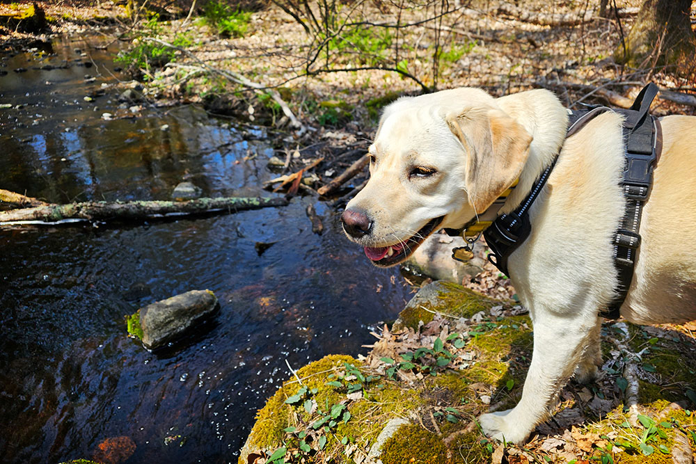
<path id="1" fill-rule="evenodd" d="M 532 136 L 498 109 L 468 109 L 445 120 L 466 151 L 466 191 L 485 211 L 519 177 Z"/>

